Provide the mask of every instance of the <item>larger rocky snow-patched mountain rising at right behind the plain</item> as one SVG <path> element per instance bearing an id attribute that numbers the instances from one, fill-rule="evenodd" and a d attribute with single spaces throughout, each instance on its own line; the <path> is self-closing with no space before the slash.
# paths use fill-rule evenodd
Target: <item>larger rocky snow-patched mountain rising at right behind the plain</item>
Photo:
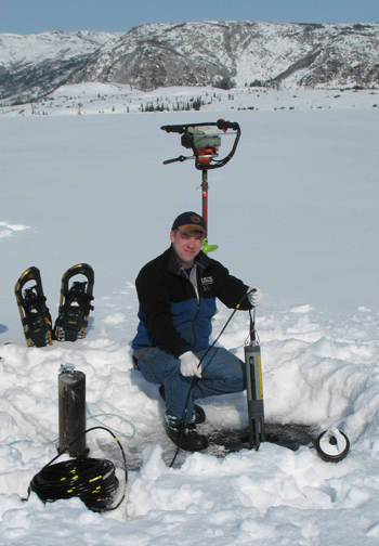
<path id="1" fill-rule="evenodd" d="M 104 44 L 70 82 L 169 86 L 371 86 L 379 25 L 204 22 L 144 25 Z"/>

